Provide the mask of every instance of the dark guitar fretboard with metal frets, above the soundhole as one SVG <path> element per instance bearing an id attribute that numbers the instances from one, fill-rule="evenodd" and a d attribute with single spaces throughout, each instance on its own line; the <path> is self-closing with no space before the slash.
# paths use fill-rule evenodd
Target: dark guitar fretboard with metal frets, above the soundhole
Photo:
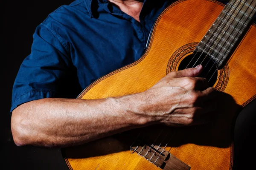
<path id="1" fill-rule="evenodd" d="M 230 0 L 198 44 L 220 67 L 256 14 L 256 0 Z"/>

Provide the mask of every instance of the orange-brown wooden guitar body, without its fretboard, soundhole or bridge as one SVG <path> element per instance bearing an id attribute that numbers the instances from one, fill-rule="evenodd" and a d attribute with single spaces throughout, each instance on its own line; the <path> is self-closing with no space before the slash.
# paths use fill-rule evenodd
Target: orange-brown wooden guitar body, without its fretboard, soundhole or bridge
<path id="1" fill-rule="evenodd" d="M 193 53 L 223 10 L 213 0 L 180 0 L 158 17 L 148 48 L 136 62 L 98 79 L 78 98 L 99 99 L 139 93 L 151 88 Z M 236 106 L 225 110 L 227 119 L 209 127 L 170 128 L 175 131 L 165 150 L 192 170 L 230 170 L 233 166 L 233 123 L 237 113 L 256 98 L 256 25 L 248 29 L 213 87 L 232 96 Z M 62 149 L 73 170 L 157 170 L 143 156 L 132 153 L 134 139 L 127 133 Z M 162 146 L 164 147 L 164 146 Z M 165 169 L 165 168 L 164 168 Z M 178 168 L 177 168 L 178 169 Z"/>

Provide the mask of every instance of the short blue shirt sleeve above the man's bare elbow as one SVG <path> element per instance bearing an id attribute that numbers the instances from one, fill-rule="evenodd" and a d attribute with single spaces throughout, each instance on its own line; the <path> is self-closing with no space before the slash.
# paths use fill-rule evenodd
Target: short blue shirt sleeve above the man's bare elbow
<path id="1" fill-rule="evenodd" d="M 67 43 L 49 27 L 39 25 L 33 34 L 31 54 L 26 57 L 15 79 L 12 108 L 32 100 L 49 97 L 70 97 L 73 64 Z"/>

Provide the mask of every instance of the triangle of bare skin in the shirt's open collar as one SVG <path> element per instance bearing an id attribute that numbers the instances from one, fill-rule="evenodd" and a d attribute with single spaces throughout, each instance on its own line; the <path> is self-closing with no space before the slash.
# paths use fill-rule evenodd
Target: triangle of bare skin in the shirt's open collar
<path id="1" fill-rule="evenodd" d="M 130 15 L 140 22 L 140 11 L 143 6 L 143 0 L 108 0 L 117 6 L 121 11 Z"/>

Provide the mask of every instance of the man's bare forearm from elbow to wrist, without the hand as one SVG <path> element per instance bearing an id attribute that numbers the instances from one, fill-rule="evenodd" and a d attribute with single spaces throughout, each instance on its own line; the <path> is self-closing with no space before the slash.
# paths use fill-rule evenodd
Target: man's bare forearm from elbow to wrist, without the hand
<path id="1" fill-rule="evenodd" d="M 136 113 L 135 105 L 140 105 L 136 95 L 96 100 L 35 100 L 13 111 L 12 133 L 17 145 L 83 144 L 151 122 L 147 116 Z"/>

